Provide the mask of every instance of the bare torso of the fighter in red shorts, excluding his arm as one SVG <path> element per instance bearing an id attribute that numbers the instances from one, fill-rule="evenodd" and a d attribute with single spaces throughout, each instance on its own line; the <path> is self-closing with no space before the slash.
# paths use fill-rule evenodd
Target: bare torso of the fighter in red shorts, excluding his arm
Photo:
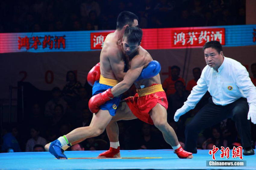
<path id="1" fill-rule="evenodd" d="M 153 59 L 152 59 L 151 55 L 148 53 L 148 51 L 145 50 L 144 48 L 142 48 L 141 46 L 139 47 L 138 51 L 136 52 L 136 55 L 138 55 L 139 57 L 145 56 L 144 68 L 146 68 L 148 66 L 149 62 L 153 61 Z M 129 60 L 128 68 L 130 69 L 132 59 L 130 59 L 128 56 L 126 56 L 126 59 Z M 140 89 L 142 85 L 144 85 L 145 87 L 148 87 L 148 86 L 151 86 L 152 84 L 161 84 L 159 74 L 157 76 L 149 78 L 149 79 L 143 79 L 143 80 L 134 82 L 134 85 L 137 89 Z"/>

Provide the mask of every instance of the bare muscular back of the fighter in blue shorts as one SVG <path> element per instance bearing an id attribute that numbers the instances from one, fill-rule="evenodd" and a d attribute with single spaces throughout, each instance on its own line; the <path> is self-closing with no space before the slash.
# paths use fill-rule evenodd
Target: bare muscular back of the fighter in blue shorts
<path id="1" fill-rule="evenodd" d="M 104 41 L 100 54 L 100 71 L 105 78 L 122 81 L 125 73 L 123 51 L 118 44 L 118 36 L 110 33 Z"/>

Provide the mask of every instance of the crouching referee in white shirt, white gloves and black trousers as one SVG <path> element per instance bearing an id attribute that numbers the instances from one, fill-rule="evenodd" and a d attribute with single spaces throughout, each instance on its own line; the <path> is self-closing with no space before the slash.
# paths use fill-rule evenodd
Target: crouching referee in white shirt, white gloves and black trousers
<path id="1" fill-rule="evenodd" d="M 187 101 L 174 115 L 177 122 L 181 115 L 195 108 L 207 90 L 210 92 L 209 103 L 186 126 L 185 150 L 197 153 L 198 133 L 231 117 L 245 149 L 243 154 L 254 155 L 249 120 L 256 124 L 256 87 L 240 62 L 224 57 L 219 41 L 205 43 L 203 52 L 207 65 Z"/>

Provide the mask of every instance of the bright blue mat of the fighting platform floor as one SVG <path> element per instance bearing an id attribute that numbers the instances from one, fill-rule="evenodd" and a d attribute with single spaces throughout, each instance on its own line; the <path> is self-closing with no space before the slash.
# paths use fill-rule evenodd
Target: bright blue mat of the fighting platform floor
<path id="1" fill-rule="evenodd" d="M 102 151 L 66 151 L 69 159 L 55 159 L 49 152 L 0 153 L 0 169 L 256 169 L 256 155 L 243 156 L 246 166 L 206 166 L 209 150 L 198 150 L 193 159 L 179 159 L 173 150 L 121 150 L 122 158 L 96 158 Z M 241 160 L 220 158 L 216 160 Z"/>

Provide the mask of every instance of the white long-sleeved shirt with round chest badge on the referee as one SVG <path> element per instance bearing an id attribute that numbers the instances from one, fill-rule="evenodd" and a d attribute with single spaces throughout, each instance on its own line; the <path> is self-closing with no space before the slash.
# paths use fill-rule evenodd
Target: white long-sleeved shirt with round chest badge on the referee
<path id="1" fill-rule="evenodd" d="M 224 57 L 218 72 L 206 65 L 182 108 L 186 112 L 195 108 L 207 90 L 216 105 L 228 105 L 244 97 L 249 103 L 249 110 L 256 109 L 256 87 L 251 82 L 246 68 L 234 59 Z"/>

